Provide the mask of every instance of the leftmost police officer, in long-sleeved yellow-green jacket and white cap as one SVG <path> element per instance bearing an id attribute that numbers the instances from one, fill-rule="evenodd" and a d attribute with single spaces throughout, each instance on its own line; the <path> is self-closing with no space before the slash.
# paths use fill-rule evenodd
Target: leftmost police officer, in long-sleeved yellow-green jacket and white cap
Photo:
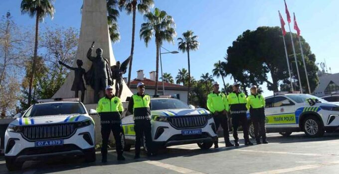
<path id="1" fill-rule="evenodd" d="M 100 115 L 101 123 L 101 136 L 102 136 L 102 163 L 107 162 L 107 145 L 108 138 L 113 132 L 113 136 L 116 143 L 116 151 L 118 154 L 118 160 L 125 160 L 123 156 L 123 148 L 121 144 L 121 120 L 120 115 L 124 111 L 123 104 L 119 97 L 114 96 L 113 87 L 107 86 L 105 97 L 101 98 L 98 102 L 97 112 Z"/>

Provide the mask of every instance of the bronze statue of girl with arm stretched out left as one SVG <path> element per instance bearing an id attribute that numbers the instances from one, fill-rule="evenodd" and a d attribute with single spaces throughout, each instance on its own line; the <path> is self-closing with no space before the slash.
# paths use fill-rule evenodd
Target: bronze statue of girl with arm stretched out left
<path id="1" fill-rule="evenodd" d="M 78 98 L 78 93 L 80 90 L 81 91 L 81 102 L 84 102 L 86 87 L 84 85 L 84 80 L 82 79 L 82 77 L 84 76 L 84 78 L 86 79 L 86 71 L 85 69 L 81 68 L 81 66 L 83 65 L 82 60 L 79 60 L 79 59 L 76 60 L 76 65 L 78 66 L 78 68 L 70 67 L 61 61 L 59 61 L 59 64 L 74 71 L 74 81 L 73 81 L 71 90 L 74 91 L 75 98 Z"/>

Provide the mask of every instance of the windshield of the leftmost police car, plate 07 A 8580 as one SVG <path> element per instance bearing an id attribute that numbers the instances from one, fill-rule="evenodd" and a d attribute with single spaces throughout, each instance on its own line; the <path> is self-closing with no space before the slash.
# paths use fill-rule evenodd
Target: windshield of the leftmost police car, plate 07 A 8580
<path id="1" fill-rule="evenodd" d="M 86 110 L 80 103 L 44 103 L 32 106 L 24 117 L 38 117 L 46 115 L 85 114 Z"/>

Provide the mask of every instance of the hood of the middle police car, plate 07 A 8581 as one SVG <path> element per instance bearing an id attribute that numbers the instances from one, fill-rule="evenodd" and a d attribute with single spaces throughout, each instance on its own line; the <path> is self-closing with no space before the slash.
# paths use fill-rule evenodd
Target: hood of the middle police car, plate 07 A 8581
<path id="1" fill-rule="evenodd" d="M 152 110 L 152 115 L 159 116 L 182 116 L 182 115 L 206 115 L 209 111 L 203 108 L 198 109 L 164 109 L 164 110 Z"/>

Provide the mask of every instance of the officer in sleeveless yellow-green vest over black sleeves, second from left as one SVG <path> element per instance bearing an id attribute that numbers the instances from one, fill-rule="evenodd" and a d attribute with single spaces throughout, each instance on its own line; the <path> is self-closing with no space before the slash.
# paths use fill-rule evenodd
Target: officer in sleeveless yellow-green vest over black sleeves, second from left
<path id="1" fill-rule="evenodd" d="M 146 138 L 147 155 L 153 156 L 153 144 L 151 134 L 151 97 L 145 94 L 145 84 L 140 82 L 137 85 L 138 92 L 132 95 L 128 104 L 128 111 L 133 114 L 134 131 L 136 132 L 135 157 L 140 158 L 140 147 L 143 135 Z"/>

